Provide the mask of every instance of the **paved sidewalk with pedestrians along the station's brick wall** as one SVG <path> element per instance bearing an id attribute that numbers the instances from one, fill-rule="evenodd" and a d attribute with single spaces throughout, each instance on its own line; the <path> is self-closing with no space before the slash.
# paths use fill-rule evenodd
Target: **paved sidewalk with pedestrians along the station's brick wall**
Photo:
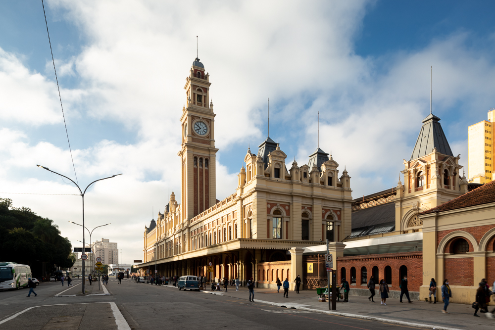
<path id="1" fill-rule="evenodd" d="M 174 286 L 172 287 L 175 289 Z M 229 286 L 228 292 L 224 290 L 221 292 L 210 291 L 209 289 L 203 292 L 221 293 L 226 297 L 249 300 L 249 291 L 246 287 L 239 287 L 239 291 L 236 291 L 235 286 Z M 310 309 L 314 312 L 329 312 L 328 301 L 319 302 L 319 295 L 316 294 L 316 291 L 300 291 L 299 294 L 295 291 L 289 291 L 289 298 L 284 298 L 283 288 L 280 289 L 280 293 L 273 289 L 255 288 L 254 295 L 255 302 L 270 303 L 287 308 Z M 447 308 L 450 314 L 442 314 L 444 307 L 442 301 L 429 304 L 415 300 L 409 304 L 405 297 L 403 303 L 400 303 L 398 299 L 389 298 L 385 306 L 380 304 L 381 299 L 377 296 L 375 296 L 375 303 L 362 296 L 349 296 L 349 298 L 348 303 L 342 300 L 337 302 L 337 310 L 330 312 L 352 314 L 354 317 L 364 319 L 379 319 L 382 322 L 396 321 L 416 327 L 422 325 L 430 329 L 473 329 L 476 327 L 477 330 L 492 330 L 495 326 L 495 320 L 486 318 L 485 314 L 479 311 L 480 317 L 474 317 L 474 309 L 471 308 L 471 305 L 450 304 Z M 492 308 L 489 307 L 489 310 L 491 311 Z"/>

